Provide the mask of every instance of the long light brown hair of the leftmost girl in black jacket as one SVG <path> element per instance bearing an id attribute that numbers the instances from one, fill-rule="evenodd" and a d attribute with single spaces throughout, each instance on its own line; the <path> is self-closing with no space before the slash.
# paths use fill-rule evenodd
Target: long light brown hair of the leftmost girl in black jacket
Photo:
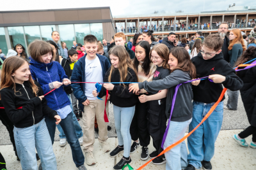
<path id="1" fill-rule="evenodd" d="M 7 59 L 4 60 L 3 69 L 1 73 L 1 83 L 0 83 L 1 89 L 0 90 L 7 87 L 13 87 L 14 94 L 16 93 L 15 81 L 13 79 L 12 73 L 14 73 L 17 69 L 19 69 L 19 67 L 25 64 L 25 62 L 28 63 L 28 61 L 23 59 L 22 57 L 15 57 L 15 56 L 8 57 Z M 35 85 L 31 74 L 29 74 L 28 81 L 32 87 L 32 90 L 35 96 L 37 96 L 39 88 Z"/>

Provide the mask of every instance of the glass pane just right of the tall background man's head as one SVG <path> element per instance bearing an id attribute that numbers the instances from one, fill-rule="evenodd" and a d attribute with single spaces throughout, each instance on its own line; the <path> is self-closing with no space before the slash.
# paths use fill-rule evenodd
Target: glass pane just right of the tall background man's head
<path id="1" fill-rule="evenodd" d="M 75 41 L 75 35 L 74 35 L 74 25 L 68 24 L 68 25 L 59 25 L 60 29 L 60 41 L 65 42 L 67 45 L 67 48 L 70 49 L 73 46 L 73 41 Z"/>

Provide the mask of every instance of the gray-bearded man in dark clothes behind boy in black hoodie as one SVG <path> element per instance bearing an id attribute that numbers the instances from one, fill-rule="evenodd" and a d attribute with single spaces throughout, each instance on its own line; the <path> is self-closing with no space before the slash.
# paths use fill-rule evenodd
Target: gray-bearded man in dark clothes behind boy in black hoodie
<path id="1" fill-rule="evenodd" d="M 220 36 L 224 39 L 224 43 L 221 48 L 221 52 L 223 53 L 223 57 L 227 62 L 230 62 L 230 56 L 228 53 L 228 46 L 229 46 L 229 39 L 226 36 L 228 32 L 228 23 L 227 22 L 222 22 L 220 24 L 220 27 L 218 28 L 218 33 Z"/>

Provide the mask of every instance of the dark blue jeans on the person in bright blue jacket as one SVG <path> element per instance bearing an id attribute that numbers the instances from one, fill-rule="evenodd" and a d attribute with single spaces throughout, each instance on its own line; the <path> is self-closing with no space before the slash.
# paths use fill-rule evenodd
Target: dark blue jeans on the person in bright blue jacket
<path id="1" fill-rule="evenodd" d="M 54 134 L 56 130 L 55 122 L 55 119 L 45 116 L 45 123 L 51 136 L 52 144 L 54 143 Z M 72 157 L 76 167 L 82 166 L 84 164 L 84 155 L 76 136 L 75 126 L 72 119 L 72 112 L 70 112 L 66 118 L 61 119 L 60 125 L 72 150 Z"/>

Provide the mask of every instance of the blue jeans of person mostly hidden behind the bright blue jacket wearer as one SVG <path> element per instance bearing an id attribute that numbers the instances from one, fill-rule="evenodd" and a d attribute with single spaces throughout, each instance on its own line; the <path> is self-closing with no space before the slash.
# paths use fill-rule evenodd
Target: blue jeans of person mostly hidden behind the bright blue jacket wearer
<path id="1" fill-rule="evenodd" d="M 72 108 L 72 118 L 73 118 L 75 130 L 76 130 L 76 136 L 77 136 L 77 138 L 81 138 L 83 136 L 83 130 L 82 130 L 81 126 L 79 125 L 78 121 L 77 121 L 76 115 L 74 114 L 72 103 L 71 103 L 71 100 L 70 100 L 70 94 L 68 94 L 68 99 L 70 101 L 70 107 Z M 60 139 L 66 138 L 60 124 L 57 125 L 57 128 L 60 131 L 60 134 L 59 134 Z"/>

